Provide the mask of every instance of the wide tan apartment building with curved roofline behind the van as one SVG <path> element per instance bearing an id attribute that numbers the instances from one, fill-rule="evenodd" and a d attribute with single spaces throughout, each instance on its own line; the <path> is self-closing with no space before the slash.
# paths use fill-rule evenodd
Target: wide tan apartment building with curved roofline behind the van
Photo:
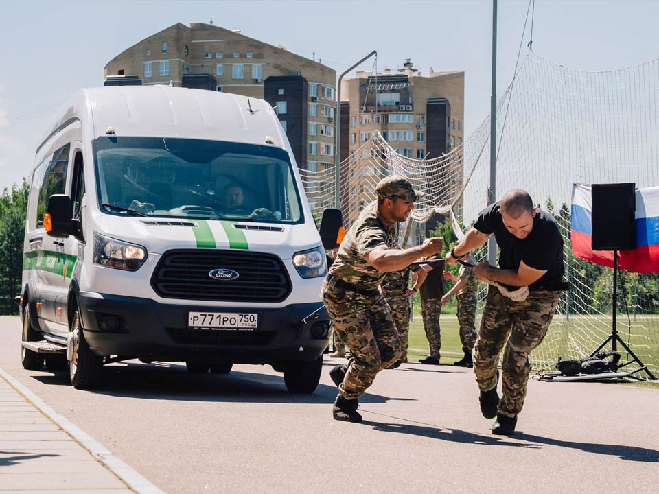
<path id="1" fill-rule="evenodd" d="M 173 84 L 266 99 L 298 167 L 334 163 L 336 71 L 211 23 L 174 24 L 110 60 L 106 86 Z"/>

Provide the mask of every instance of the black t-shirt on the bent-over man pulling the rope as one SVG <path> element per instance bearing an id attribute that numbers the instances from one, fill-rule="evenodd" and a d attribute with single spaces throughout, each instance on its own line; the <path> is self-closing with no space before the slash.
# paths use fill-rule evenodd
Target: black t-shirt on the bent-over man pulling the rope
<path id="1" fill-rule="evenodd" d="M 495 202 L 481 211 L 474 228 L 481 233 L 494 233 L 499 246 L 499 268 L 518 270 L 520 261 L 529 268 L 545 271 L 529 288 L 548 288 L 563 278 L 563 237 L 556 220 L 549 213 L 537 209 L 531 233 L 518 239 L 503 224 L 499 203 Z"/>

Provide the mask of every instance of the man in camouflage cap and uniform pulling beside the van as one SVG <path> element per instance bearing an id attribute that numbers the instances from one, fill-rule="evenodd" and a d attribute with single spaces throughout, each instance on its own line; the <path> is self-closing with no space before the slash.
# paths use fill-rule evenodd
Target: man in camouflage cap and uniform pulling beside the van
<path id="1" fill-rule="evenodd" d="M 397 248 L 398 222 L 405 221 L 414 202 L 423 195 L 402 176 L 383 178 L 375 187 L 378 200 L 369 204 L 347 231 L 338 255 L 323 282 L 322 296 L 338 332 L 352 357 L 330 371 L 338 396 L 334 419 L 360 422 L 358 397 L 375 375 L 396 362 L 400 339 L 389 305 L 378 290 L 386 272 L 401 270 L 417 259 L 441 252 L 441 238 L 421 246 Z"/>

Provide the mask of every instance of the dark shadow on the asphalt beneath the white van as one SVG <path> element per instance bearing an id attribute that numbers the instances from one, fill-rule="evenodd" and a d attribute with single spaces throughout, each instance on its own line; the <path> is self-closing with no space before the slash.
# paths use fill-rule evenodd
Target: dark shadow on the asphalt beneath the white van
<path id="1" fill-rule="evenodd" d="M 218 401 L 234 403 L 325 403 L 336 398 L 336 387 L 318 385 L 310 394 L 288 392 L 283 375 L 231 371 L 226 375 L 192 374 L 185 364 L 110 365 L 103 369 L 103 383 L 93 390 L 101 395 L 141 399 Z M 32 375 L 49 386 L 71 386 L 64 373 Z M 85 392 L 80 390 L 80 392 Z M 402 400 L 382 395 L 365 395 L 365 403 L 385 403 Z"/>

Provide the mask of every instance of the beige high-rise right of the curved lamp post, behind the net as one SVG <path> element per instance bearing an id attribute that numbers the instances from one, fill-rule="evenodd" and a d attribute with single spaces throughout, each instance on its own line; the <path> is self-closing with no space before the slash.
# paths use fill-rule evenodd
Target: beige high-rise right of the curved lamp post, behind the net
<path id="1" fill-rule="evenodd" d="M 464 139 L 464 72 L 435 72 L 428 75 L 415 69 L 410 59 L 393 73 L 373 74 L 358 71 L 354 79 L 341 86 L 341 159 L 347 158 L 369 140 L 375 130 L 395 150 L 409 158 L 437 158 L 461 145 Z M 347 100 L 347 104 L 346 104 Z M 349 108 L 349 110 L 348 110 Z M 344 113 L 348 110 L 348 117 Z M 463 171 L 459 171 L 463 180 Z M 365 207 L 364 187 L 359 176 L 349 178 L 347 187 L 349 218 L 354 219 Z M 462 214 L 457 204 L 456 215 Z M 426 231 L 435 228 L 437 220 L 417 224 L 410 243 L 423 241 Z"/>

